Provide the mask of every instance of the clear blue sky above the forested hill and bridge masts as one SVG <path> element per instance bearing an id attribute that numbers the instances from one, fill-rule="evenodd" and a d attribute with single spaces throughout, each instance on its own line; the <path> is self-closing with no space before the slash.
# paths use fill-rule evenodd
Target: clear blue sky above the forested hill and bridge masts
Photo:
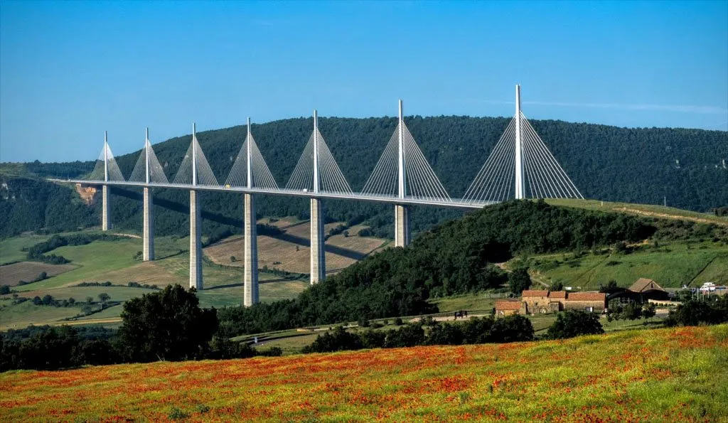
<path id="1" fill-rule="evenodd" d="M 0 2 L 0 161 L 309 116 L 728 129 L 728 1 Z M 325 129 L 322 128 L 325 132 Z"/>

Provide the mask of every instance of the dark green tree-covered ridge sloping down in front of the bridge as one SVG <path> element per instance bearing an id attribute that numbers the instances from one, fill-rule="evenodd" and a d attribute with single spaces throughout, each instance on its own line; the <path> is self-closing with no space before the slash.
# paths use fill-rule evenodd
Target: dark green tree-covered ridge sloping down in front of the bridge
<path id="1" fill-rule="evenodd" d="M 408 248 L 389 248 L 313 285 L 296 299 L 223 309 L 221 330 L 233 336 L 437 312 L 430 297 L 497 288 L 507 280 L 494 263 L 515 253 L 636 242 L 657 228 L 642 218 L 505 202 L 421 234 Z"/>

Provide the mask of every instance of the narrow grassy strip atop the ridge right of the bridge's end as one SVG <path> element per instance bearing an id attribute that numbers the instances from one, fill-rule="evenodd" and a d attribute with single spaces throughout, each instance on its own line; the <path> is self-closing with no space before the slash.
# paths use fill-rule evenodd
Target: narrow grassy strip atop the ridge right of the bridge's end
<path id="1" fill-rule="evenodd" d="M 609 212 L 627 213 L 637 216 L 650 216 L 655 218 L 683 219 L 703 224 L 718 224 L 728 226 L 728 217 L 718 217 L 711 213 L 698 213 L 661 205 L 631 204 L 628 202 L 608 202 L 596 199 L 547 199 L 551 205 L 583 208 L 587 210 L 600 210 Z"/>

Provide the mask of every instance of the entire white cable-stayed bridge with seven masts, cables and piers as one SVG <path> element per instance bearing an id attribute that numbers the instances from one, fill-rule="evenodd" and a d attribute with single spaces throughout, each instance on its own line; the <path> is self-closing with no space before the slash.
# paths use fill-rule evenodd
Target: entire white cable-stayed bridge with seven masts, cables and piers
<path id="1" fill-rule="evenodd" d="M 258 302 L 258 260 L 254 196 L 309 197 L 311 201 L 311 283 L 325 277 L 324 199 L 354 199 L 395 205 L 395 246 L 410 241 L 411 205 L 478 209 L 509 198 L 583 198 L 553 154 L 521 112 L 521 87 L 515 87 L 515 115 L 462 199 L 452 199 L 432 170 L 403 119 L 399 103 L 397 127 L 360 192 L 352 191 L 332 151 L 321 135 L 317 112 L 313 131 L 285 186 L 279 186 L 250 132 L 242 144 L 224 183 L 218 182 L 197 141 L 192 139 L 175 177 L 170 180 L 159 163 L 147 131 L 144 147 L 128 180 L 116 164 L 104 136 L 103 149 L 94 170 L 86 178 L 62 182 L 100 185 L 102 228 L 111 227 L 108 186 L 143 188 L 143 258 L 154 260 L 154 219 L 151 189 L 184 189 L 190 192 L 190 286 L 201 290 L 201 218 L 197 191 L 227 191 L 243 194 L 245 202 L 244 304 Z M 54 179 L 53 181 L 61 181 Z"/>

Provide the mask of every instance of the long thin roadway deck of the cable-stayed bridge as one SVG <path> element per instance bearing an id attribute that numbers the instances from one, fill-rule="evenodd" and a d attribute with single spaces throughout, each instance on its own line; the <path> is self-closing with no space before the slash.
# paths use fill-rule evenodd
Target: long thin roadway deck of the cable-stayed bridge
<path id="1" fill-rule="evenodd" d="M 369 195 L 359 193 L 341 193 L 341 192 L 322 192 L 313 193 L 311 191 L 302 191 L 298 189 L 263 189 L 248 188 L 245 186 L 218 186 L 218 185 L 191 185 L 181 183 L 143 183 L 143 182 L 127 182 L 127 181 L 86 181 L 81 179 L 53 179 L 48 181 L 60 183 L 84 183 L 86 185 L 106 185 L 106 186 L 131 186 L 137 188 L 163 188 L 163 189 L 186 189 L 188 191 L 213 191 L 213 192 L 234 192 L 237 194 L 269 194 L 269 195 L 285 195 L 290 197 L 305 197 L 318 199 L 354 199 L 359 201 L 382 202 L 392 205 L 429 205 L 436 207 L 452 207 L 467 210 L 477 210 L 486 205 L 493 205 L 496 202 L 464 202 L 462 200 L 443 201 L 442 199 L 428 199 L 405 197 L 399 198 L 388 195 Z"/>

